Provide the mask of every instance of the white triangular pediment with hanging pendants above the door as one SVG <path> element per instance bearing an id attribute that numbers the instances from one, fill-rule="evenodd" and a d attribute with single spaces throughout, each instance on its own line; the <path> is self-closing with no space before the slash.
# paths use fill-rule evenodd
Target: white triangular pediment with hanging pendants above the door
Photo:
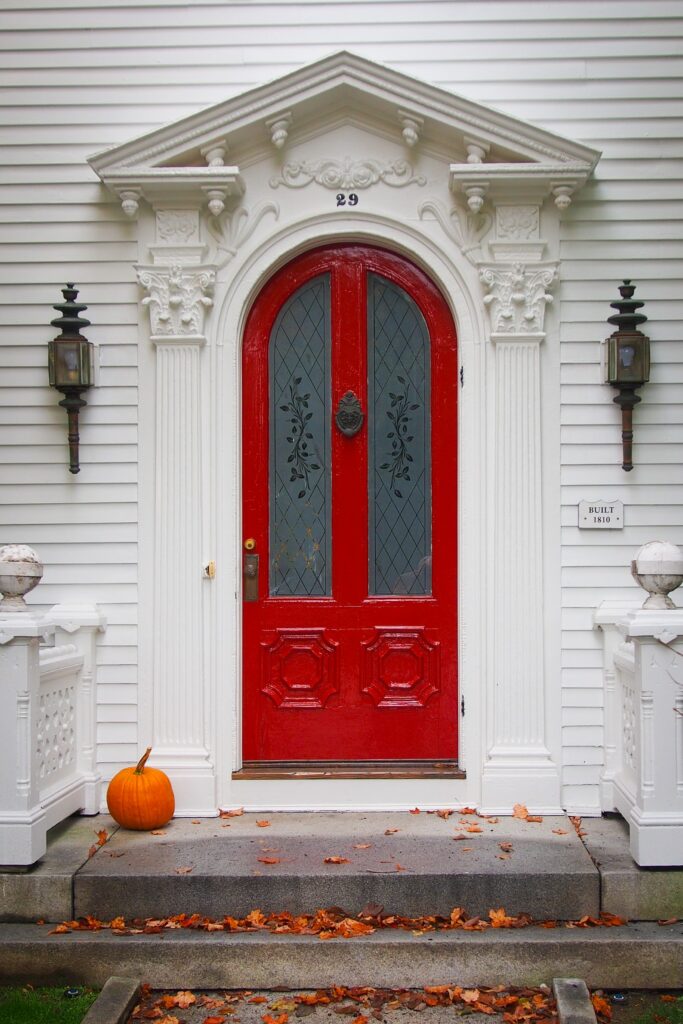
<path id="1" fill-rule="evenodd" d="M 208 203 L 216 214 L 245 191 L 248 169 L 340 126 L 394 140 L 403 154 L 438 157 L 471 209 L 501 188 L 554 194 L 558 207 L 600 154 L 490 108 L 345 51 L 90 159 L 134 215 L 154 205 Z"/>

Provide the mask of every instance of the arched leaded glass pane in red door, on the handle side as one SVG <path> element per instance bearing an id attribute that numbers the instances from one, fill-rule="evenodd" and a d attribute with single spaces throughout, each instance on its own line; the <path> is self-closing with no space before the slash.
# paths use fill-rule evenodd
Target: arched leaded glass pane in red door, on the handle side
<path id="1" fill-rule="evenodd" d="M 270 335 L 270 594 L 330 594 L 330 280 L 283 306 Z"/>

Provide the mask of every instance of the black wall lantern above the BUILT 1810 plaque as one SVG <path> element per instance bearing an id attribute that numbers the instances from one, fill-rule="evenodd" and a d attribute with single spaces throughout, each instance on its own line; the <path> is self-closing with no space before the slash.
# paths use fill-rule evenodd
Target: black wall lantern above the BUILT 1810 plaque
<path id="1" fill-rule="evenodd" d="M 640 401 L 636 388 L 650 379 L 650 340 L 638 330 L 647 316 L 636 312 L 644 303 L 633 298 L 635 290 L 625 281 L 620 286 L 622 298 L 609 303 L 618 312 L 607 317 L 607 323 L 616 327 L 607 338 L 607 382 L 618 388 L 612 400 L 622 410 L 622 469 L 627 473 L 633 469 L 633 407 Z"/>

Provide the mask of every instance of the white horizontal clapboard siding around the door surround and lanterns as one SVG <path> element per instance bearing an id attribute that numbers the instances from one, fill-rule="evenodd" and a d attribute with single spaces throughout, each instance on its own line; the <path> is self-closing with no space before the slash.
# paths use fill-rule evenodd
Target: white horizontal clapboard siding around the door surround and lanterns
<path id="1" fill-rule="evenodd" d="M 108 614 L 105 775 L 138 741 L 136 246 L 85 160 L 344 47 L 603 153 L 563 216 L 554 304 L 564 799 L 599 809 L 593 610 L 635 594 L 628 565 L 642 543 L 683 542 L 682 35 L 680 0 L 0 0 L 0 539 L 42 552 L 44 604 L 96 600 Z M 630 474 L 599 344 L 627 276 L 653 342 Z M 77 481 L 63 473 L 66 417 L 44 368 L 51 305 L 72 280 L 99 362 Z M 578 503 L 600 497 L 625 502 L 623 530 L 579 529 Z"/>

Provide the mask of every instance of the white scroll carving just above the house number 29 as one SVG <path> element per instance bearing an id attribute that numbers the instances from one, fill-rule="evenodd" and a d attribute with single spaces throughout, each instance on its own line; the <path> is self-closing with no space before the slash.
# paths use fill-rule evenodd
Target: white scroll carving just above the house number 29
<path id="1" fill-rule="evenodd" d="M 379 160 L 302 160 L 285 164 L 280 177 L 270 178 L 270 187 L 286 185 L 288 188 L 303 188 L 315 181 L 325 188 L 370 188 L 383 181 L 392 188 L 403 185 L 427 184 L 423 174 L 415 174 L 413 167 L 404 160 L 394 160 L 385 164 Z"/>

